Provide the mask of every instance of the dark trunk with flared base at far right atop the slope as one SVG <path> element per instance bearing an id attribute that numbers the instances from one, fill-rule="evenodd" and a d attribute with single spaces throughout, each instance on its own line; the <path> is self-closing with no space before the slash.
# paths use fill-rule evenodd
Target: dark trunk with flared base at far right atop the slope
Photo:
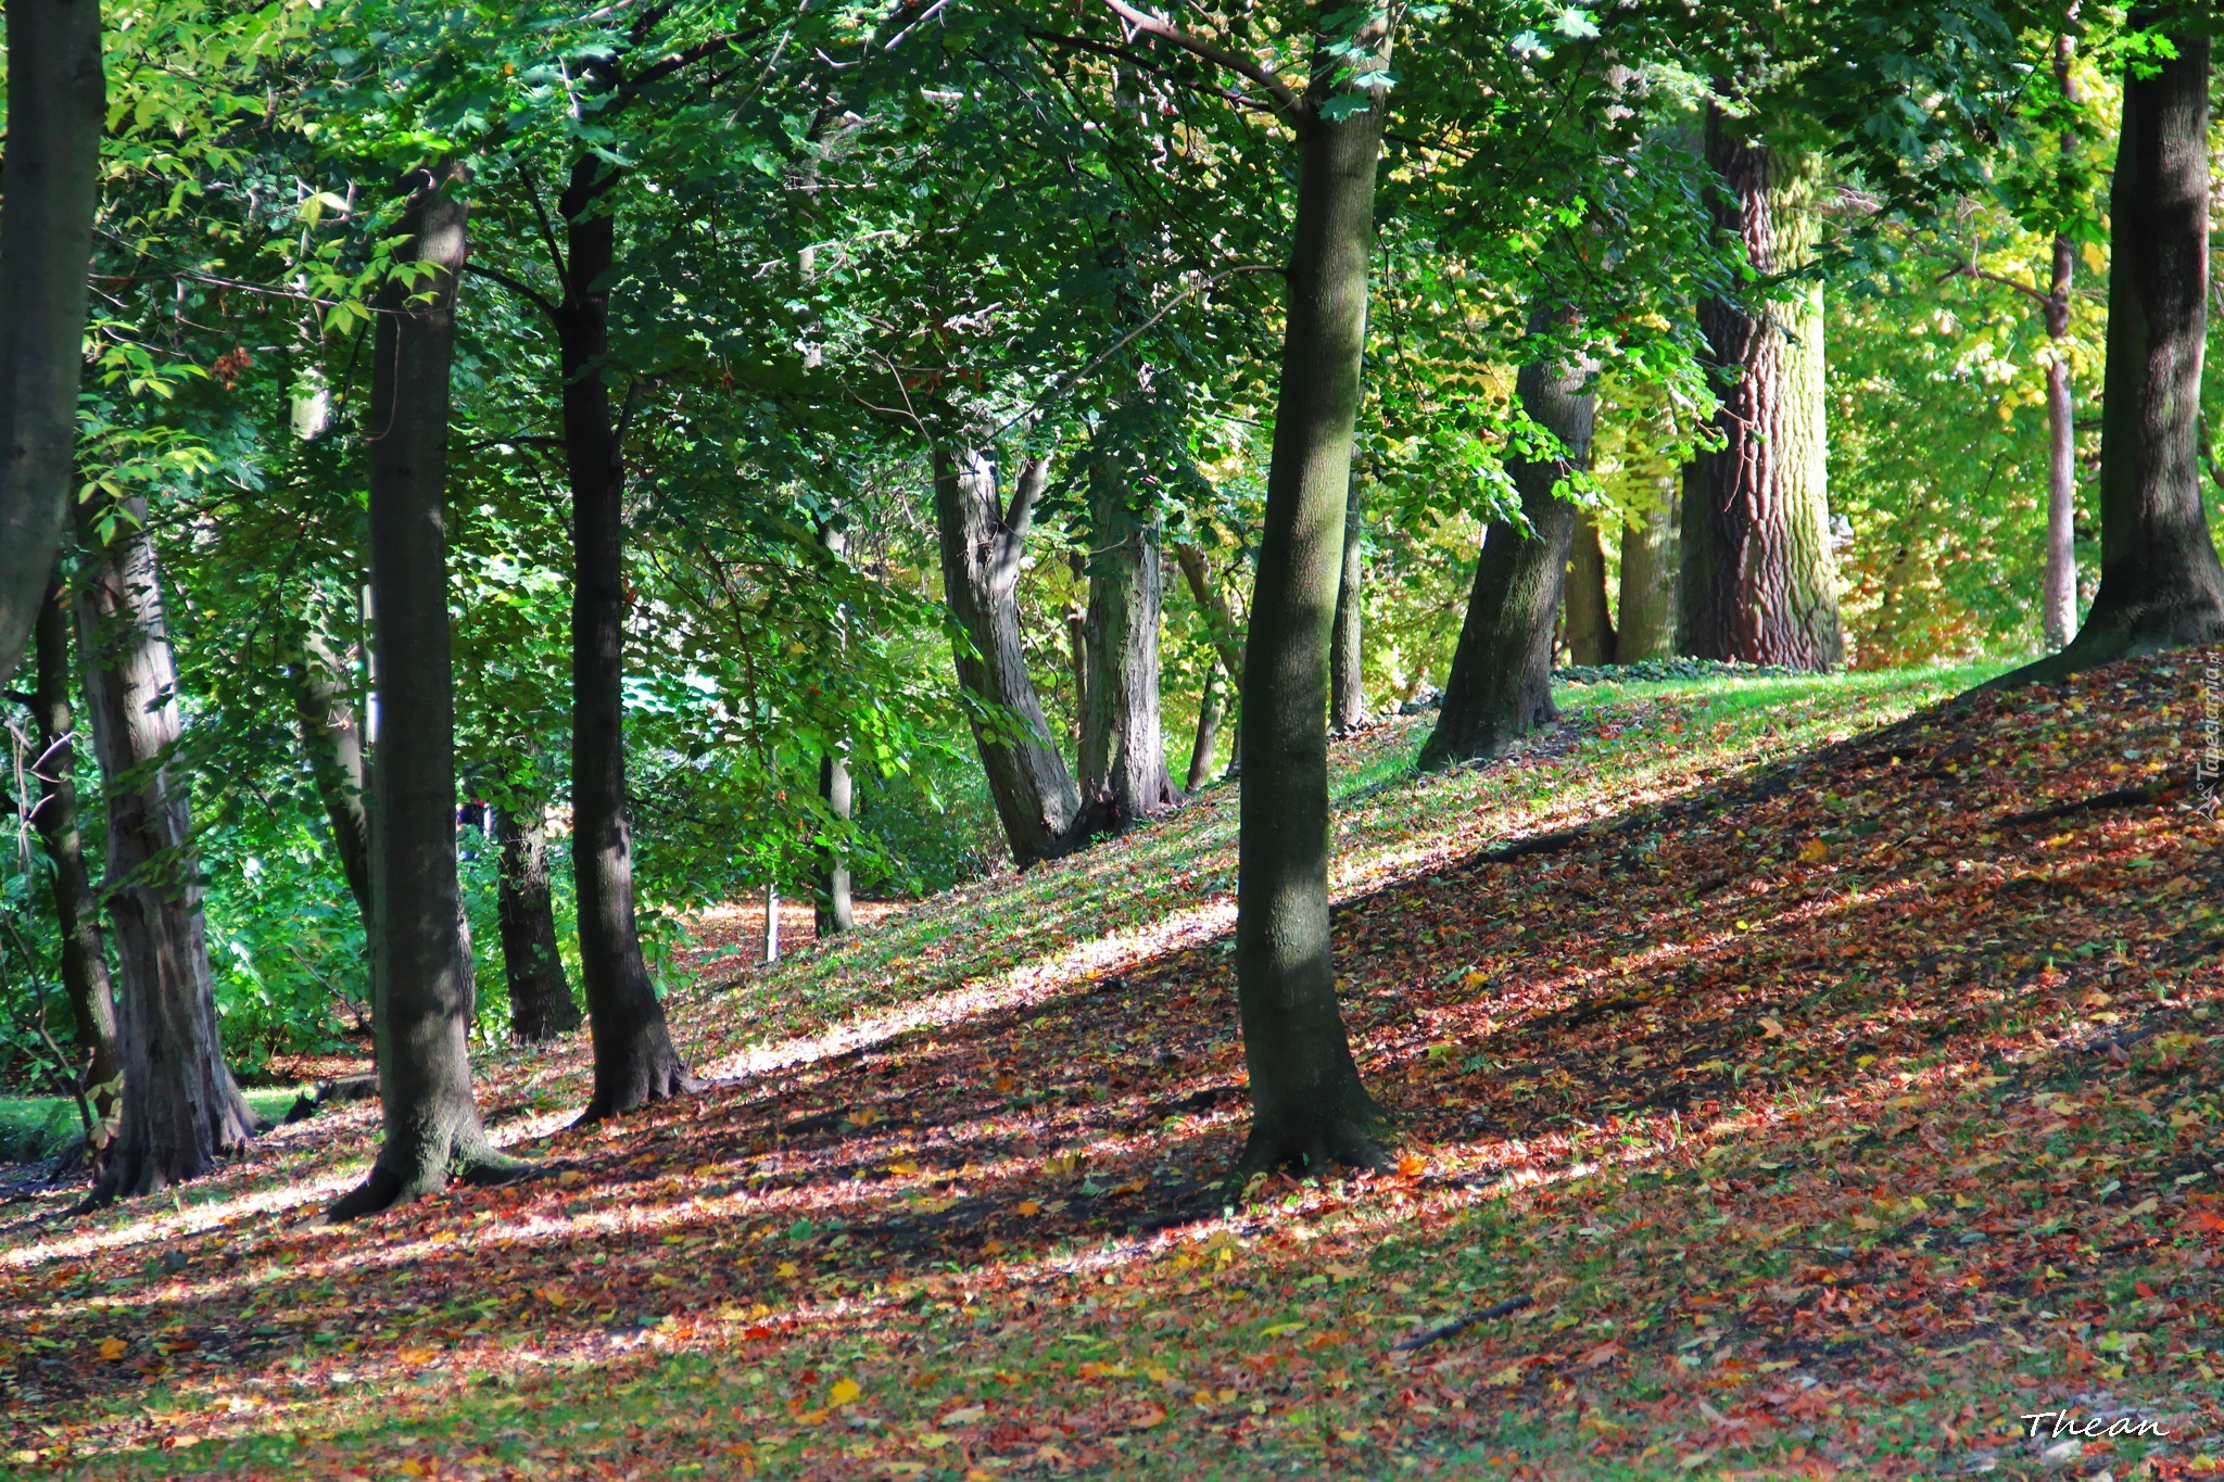
<path id="1" fill-rule="evenodd" d="M 2135 24 L 2180 11 L 2135 7 Z M 2191 16 L 2186 7 L 2182 16 Z M 2028 684 L 2224 638 L 2224 569 L 2200 484 L 2208 333 L 2208 40 L 2124 78 L 2108 196 L 2108 371 L 2099 422 L 2099 591 L 2077 638 L 2002 675 Z"/>

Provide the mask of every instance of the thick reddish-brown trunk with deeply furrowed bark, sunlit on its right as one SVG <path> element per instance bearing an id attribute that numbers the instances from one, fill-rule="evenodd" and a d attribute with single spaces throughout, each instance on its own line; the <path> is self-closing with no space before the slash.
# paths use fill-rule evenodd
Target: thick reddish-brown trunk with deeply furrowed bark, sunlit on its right
<path id="1" fill-rule="evenodd" d="M 1717 229 L 1737 233 L 1764 278 L 1813 258 L 1815 162 L 1735 133 L 1710 109 L 1706 158 L 1721 178 Z M 1684 495 L 1684 649 L 1793 669 L 1844 662 L 1826 487 L 1824 316 L 1810 284 L 1748 313 L 1699 309 L 1717 367 L 1719 451 L 1699 453 Z"/>

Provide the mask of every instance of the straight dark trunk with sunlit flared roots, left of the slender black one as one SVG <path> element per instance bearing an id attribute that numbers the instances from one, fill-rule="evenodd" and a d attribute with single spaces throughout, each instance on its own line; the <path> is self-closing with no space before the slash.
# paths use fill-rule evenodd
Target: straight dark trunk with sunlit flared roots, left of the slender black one
<path id="1" fill-rule="evenodd" d="M 334 1220 L 438 1193 L 451 1178 L 514 1178 L 471 1095 L 471 962 L 456 882 L 456 691 L 447 622 L 447 415 L 465 173 L 409 178 L 396 260 L 436 271 L 378 291 L 369 442 L 371 642 L 378 764 L 371 773 L 371 1024 L 385 1140 Z M 427 300 L 429 296 L 429 300 Z"/>

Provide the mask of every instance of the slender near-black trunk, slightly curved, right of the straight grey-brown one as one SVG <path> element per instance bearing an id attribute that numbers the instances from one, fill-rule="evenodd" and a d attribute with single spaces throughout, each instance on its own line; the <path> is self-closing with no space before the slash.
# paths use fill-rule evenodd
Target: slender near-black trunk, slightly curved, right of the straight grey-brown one
<path id="1" fill-rule="evenodd" d="M 634 915 L 625 798 L 625 451 L 603 380 L 616 218 L 598 209 L 614 176 L 580 156 L 556 202 L 565 220 L 563 440 L 572 478 L 572 871 L 578 967 L 594 1029 L 594 1095 L 583 1122 L 634 1111 L 698 1082 L 665 1024 Z"/>

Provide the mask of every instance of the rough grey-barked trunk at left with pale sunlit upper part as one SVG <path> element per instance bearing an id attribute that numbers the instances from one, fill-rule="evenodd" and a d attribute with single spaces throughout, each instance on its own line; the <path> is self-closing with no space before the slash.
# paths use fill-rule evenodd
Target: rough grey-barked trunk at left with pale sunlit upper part
<path id="1" fill-rule="evenodd" d="M 78 642 L 93 751 L 109 802 L 109 918 L 120 993 L 122 1122 L 89 1204 L 200 1178 L 247 1149 L 254 1113 L 216 1029 L 216 980 L 178 744 L 178 667 L 169 651 L 145 504 L 78 507 L 85 571 Z M 116 520 L 100 540 L 100 520 Z"/>

